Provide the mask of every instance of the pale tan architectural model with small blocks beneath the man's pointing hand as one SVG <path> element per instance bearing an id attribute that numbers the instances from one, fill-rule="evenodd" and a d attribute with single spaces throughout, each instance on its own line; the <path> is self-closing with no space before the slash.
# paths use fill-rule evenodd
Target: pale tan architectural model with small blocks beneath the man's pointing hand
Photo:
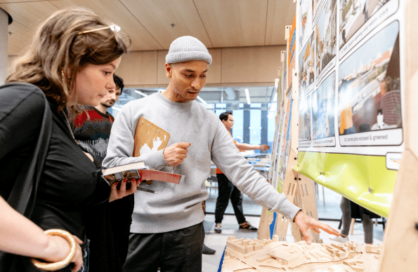
<path id="1" fill-rule="evenodd" d="M 381 246 L 346 243 L 289 243 L 273 240 L 226 241 L 222 272 L 372 272 L 377 271 Z"/>

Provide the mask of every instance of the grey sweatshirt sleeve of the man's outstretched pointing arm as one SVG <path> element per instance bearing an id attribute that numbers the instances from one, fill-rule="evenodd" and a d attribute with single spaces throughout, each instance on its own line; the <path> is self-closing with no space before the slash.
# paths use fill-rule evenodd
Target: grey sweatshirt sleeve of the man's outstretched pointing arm
<path id="1" fill-rule="evenodd" d="M 289 219 L 293 219 L 299 212 L 300 209 L 287 200 L 285 193 L 277 192 L 240 154 L 220 121 L 217 122 L 211 145 L 211 159 L 240 191 L 257 204 L 271 212 L 280 212 Z"/>

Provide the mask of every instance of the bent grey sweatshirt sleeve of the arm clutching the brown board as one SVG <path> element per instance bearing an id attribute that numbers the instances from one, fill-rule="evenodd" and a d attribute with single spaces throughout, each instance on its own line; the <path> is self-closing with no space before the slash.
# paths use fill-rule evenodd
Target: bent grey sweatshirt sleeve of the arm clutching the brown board
<path id="1" fill-rule="evenodd" d="M 133 110 L 126 104 L 122 107 L 115 118 L 110 132 L 109 145 L 107 146 L 107 155 L 102 165 L 105 168 L 111 168 L 119 165 L 137 163 L 144 161 L 151 169 L 160 170 L 168 166 L 164 161 L 163 151 L 155 151 L 143 154 L 139 157 L 133 157 L 133 136 L 135 135 L 136 122 L 138 118 L 133 118 Z"/>

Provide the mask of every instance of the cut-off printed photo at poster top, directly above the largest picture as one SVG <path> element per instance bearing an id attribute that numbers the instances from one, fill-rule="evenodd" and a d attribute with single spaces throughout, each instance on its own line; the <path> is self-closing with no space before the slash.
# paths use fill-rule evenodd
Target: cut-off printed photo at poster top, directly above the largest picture
<path id="1" fill-rule="evenodd" d="M 340 60 L 348 50 L 395 13 L 399 5 L 398 0 L 340 0 L 339 3 Z"/>

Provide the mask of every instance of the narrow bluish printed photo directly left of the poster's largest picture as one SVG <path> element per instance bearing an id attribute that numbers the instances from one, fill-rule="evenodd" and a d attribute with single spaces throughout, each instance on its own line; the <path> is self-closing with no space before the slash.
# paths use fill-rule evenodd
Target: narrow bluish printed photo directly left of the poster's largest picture
<path id="1" fill-rule="evenodd" d="M 335 146 L 335 77 L 335 72 L 332 72 L 311 95 L 314 147 Z"/>

